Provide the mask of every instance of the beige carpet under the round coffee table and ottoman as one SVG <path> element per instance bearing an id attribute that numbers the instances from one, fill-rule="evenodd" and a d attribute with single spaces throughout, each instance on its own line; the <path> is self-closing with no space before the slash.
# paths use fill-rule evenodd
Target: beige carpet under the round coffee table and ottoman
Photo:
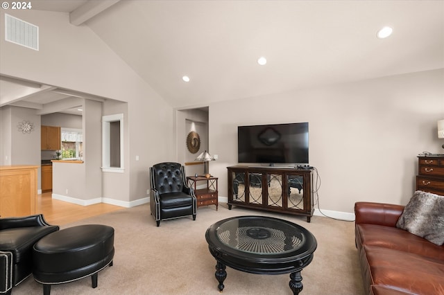
<path id="1" fill-rule="evenodd" d="M 200 207 L 191 217 L 155 225 L 147 204 L 91 217 L 72 224 L 106 224 L 114 227 L 114 265 L 99 272 L 99 285 L 91 278 L 53 285 L 51 294 L 219 294 L 214 278 L 216 260 L 208 251 L 207 228 L 219 220 L 239 215 L 264 215 L 289 220 L 311 231 L 318 241 L 314 260 L 302 270 L 301 294 L 364 294 L 354 241 L 353 222 L 327 217 L 306 217 L 255 211 L 226 204 Z M 60 263 L 63 263 L 60 261 Z M 247 274 L 227 267 L 222 294 L 292 294 L 289 274 Z M 12 289 L 12 294 L 42 294 L 33 277 Z"/>

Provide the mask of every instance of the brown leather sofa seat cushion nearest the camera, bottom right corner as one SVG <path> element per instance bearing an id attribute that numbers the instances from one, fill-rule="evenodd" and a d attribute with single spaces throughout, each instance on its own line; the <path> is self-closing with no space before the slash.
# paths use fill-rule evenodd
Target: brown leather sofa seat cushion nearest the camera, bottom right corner
<path id="1" fill-rule="evenodd" d="M 444 294 L 443 260 L 377 246 L 364 249 L 372 285 L 409 294 Z"/>

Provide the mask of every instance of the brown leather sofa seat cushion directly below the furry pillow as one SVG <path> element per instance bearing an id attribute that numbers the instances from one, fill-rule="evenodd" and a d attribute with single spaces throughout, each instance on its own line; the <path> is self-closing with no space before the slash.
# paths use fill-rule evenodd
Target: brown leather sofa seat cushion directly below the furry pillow
<path id="1" fill-rule="evenodd" d="M 444 247 L 412 235 L 408 231 L 377 224 L 357 224 L 361 244 L 395 249 L 444 261 Z"/>

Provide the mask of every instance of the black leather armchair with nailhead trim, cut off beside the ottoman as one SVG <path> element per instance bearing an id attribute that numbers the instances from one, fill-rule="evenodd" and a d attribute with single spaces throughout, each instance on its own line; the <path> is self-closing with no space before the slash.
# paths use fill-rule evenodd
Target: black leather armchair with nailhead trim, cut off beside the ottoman
<path id="1" fill-rule="evenodd" d="M 0 294 L 11 294 L 33 271 L 33 246 L 58 231 L 43 215 L 0 218 Z"/>

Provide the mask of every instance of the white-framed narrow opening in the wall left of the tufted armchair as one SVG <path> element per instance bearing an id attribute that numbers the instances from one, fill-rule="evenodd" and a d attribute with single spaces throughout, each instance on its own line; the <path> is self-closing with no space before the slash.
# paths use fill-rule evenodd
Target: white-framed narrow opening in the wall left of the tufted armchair
<path id="1" fill-rule="evenodd" d="M 102 170 L 123 173 L 123 114 L 102 117 Z"/>

